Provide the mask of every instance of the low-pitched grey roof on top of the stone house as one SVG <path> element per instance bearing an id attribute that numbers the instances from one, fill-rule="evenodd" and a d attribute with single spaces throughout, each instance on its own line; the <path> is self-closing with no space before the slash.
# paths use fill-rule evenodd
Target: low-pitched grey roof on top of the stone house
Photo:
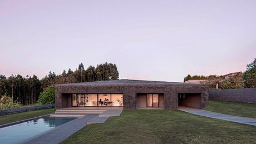
<path id="1" fill-rule="evenodd" d="M 67 84 L 60 84 L 60 85 L 63 86 L 63 85 L 201 85 L 201 84 L 121 79 L 121 80 L 109 80 L 109 81 L 67 83 Z"/>

